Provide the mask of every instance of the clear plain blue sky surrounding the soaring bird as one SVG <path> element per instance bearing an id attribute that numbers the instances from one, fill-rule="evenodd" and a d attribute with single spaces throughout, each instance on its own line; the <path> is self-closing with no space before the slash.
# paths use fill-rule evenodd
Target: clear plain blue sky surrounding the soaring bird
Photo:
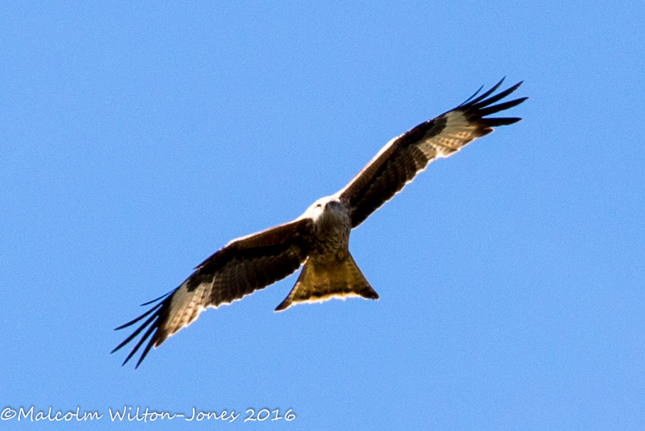
<path id="1" fill-rule="evenodd" d="M 77 425 L 92 429 L 124 407 L 241 413 L 129 425 L 158 430 L 643 429 L 643 16 L 602 1 L 5 1 L 0 407 L 98 411 Z M 209 309 L 137 371 L 108 354 L 138 304 L 503 76 L 525 81 L 523 121 L 431 164 L 352 232 L 379 301 L 273 313 L 293 275 Z M 245 423 L 249 408 L 296 416 Z"/>

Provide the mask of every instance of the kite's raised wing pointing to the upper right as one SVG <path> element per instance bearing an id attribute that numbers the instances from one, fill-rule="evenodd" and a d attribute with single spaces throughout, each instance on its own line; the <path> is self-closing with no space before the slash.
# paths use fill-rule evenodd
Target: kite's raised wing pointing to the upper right
<path id="1" fill-rule="evenodd" d="M 503 80 L 500 80 L 491 90 L 475 98 L 480 88 L 455 109 L 429 119 L 388 142 L 374 159 L 337 193 L 337 196 L 352 208 L 352 228 L 360 225 L 369 214 L 389 201 L 434 159 L 450 156 L 473 139 L 493 132 L 493 127 L 520 121 L 521 118 L 516 117 L 487 117 L 528 99 L 520 97 L 493 105 L 517 90 L 521 84 L 517 83 L 508 90 L 492 95 L 502 82 Z"/>

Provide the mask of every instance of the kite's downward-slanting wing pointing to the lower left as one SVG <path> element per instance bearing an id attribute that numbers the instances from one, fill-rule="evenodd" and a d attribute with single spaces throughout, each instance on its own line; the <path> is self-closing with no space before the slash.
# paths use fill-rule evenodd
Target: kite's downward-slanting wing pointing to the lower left
<path id="1" fill-rule="evenodd" d="M 310 220 L 299 218 L 231 241 L 201 262 L 177 289 L 142 304 L 157 302 L 152 309 L 116 328 L 124 329 L 147 318 L 110 353 L 130 343 L 147 329 L 123 362 L 125 365 L 130 361 L 152 335 L 137 362 L 138 367 L 152 346 L 159 346 L 179 329 L 191 324 L 206 307 L 230 304 L 298 270 L 307 257 L 305 242 L 308 223 Z"/>

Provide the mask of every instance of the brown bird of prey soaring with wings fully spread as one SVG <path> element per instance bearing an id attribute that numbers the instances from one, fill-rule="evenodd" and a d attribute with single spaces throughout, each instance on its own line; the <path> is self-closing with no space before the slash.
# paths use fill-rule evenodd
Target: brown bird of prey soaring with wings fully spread
<path id="1" fill-rule="evenodd" d="M 152 346 L 159 346 L 179 329 L 191 324 L 206 307 L 230 304 L 282 280 L 300 265 L 304 266 L 295 286 L 276 307 L 276 312 L 300 302 L 331 298 L 378 299 L 379 295 L 350 255 L 350 231 L 412 181 L 430 161 L 454 154 L 473 139 L 492 132 L 493 127 L 520 121 L 517 117 L 488 117 L 527 99 L 520 97 L 494 105 L 521 84 L 493 94 L 502 82 L 477 96 L 480 87 L 453 110 L 395 137 L 345 188 L 318 199 L 295 220 L 226 244 L 197 265 L 179 287 L 142 304 L 156 303 L 137 319 L 117 328 L 123 329 L 145 319 L 111 353 L 145 331 L 123 362 L 125 365 L 130 361 L 150 339 L 138 367 Z"/>

